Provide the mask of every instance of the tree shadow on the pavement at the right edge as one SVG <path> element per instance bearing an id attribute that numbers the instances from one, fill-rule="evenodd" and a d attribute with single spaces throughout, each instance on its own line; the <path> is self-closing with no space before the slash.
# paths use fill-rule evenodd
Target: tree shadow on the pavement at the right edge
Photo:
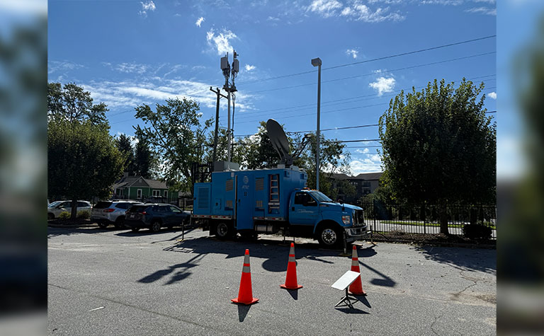
<path id="1" fill-rule="evenodd" d="M 473 270 L 497 274 L 497 250 L 472 248 L 418 248 L 427 260 L 451 265 L 458 270 Z"/>

